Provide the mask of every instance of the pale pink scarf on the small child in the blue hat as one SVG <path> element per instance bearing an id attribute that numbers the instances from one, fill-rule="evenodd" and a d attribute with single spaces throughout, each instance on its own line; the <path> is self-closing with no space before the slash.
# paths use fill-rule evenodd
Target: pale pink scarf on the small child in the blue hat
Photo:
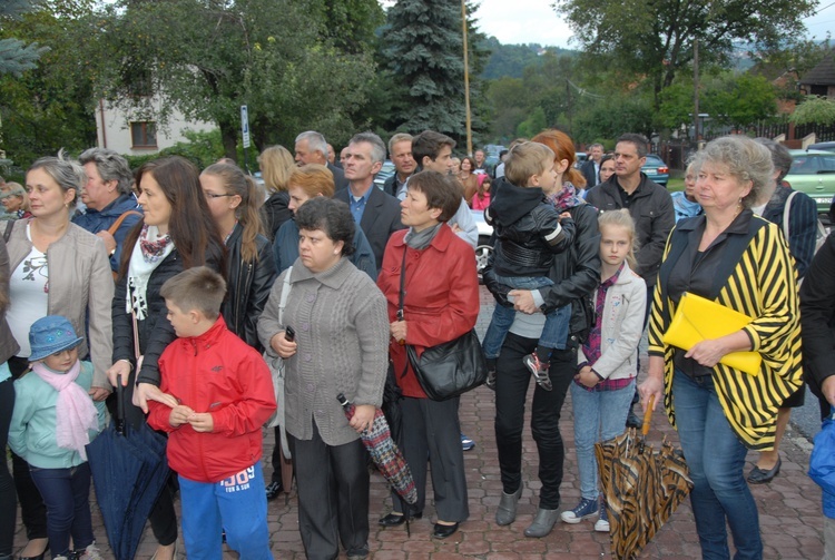
<path id="1" fill-rule="evenodd" d="M 98 412 L 87 391 L 75 382 L 81 372 L 81 362 L 77 360 L 67 373 L 56 373 L 42 362 L 35 362 L 32 371 L 58 391 L 56 403 L 58 446 L 78 451 L 81 459 L 87 461 L 85 445 L 90 443 L 88 430 L 98 429 Z"/>

